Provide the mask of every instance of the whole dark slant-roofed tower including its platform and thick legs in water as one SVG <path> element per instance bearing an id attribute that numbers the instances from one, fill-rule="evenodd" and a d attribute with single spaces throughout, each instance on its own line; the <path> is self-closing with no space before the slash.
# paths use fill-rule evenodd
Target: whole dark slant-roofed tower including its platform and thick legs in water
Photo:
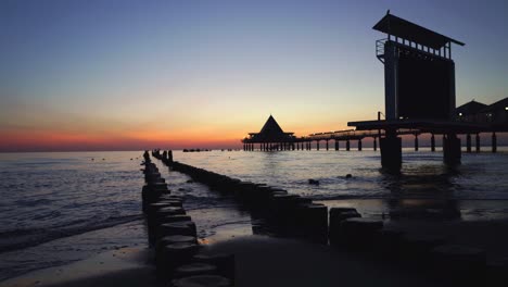
<path id="1" fill-rule="evenodd" d="M 411 128 L 443 134 L 443 159 L 460 163 L 461 130 L 455 110 L 455 63 L 452 43 L 463 42 L 443 36 L 409 21 L 384 15 L 373 29 L 386 38 L 376 41 L 376 55 L 384 64 L 385 121 L 351 122 L 357 129 L 384 129 L 380 138 L 381 164 L 402 166 L 402 138 L 397 129 Z M 418 134 L 415 133 L 415 149 Z M 432 141 L 434 147 L 434 141 Z"/>

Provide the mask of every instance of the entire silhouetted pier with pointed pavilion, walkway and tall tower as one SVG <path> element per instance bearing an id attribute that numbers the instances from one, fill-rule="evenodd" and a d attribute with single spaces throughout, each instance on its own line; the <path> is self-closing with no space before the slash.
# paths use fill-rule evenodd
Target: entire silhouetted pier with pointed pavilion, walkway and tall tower
<path id="1" fill-rule="evenodd" d="M 435 135 L 441 135 L 443 160 L 448 165 L 460 163 L 458 135 L 466 135 L 467 152 L 472 151 L 471 135 L 474 135 L 475 151 L 479 152 L 480 134 L 492 133 L 492 151 L 497 151 L 496 133 L 508 132 L 508 103 L 501 107 L 506 99 L 490 109 L 473 109 L 474 112 L 484 111 L 482 116 L 487 120 L 496 117 L 501 118 L 500 122 L 465 121 L 465 111 L 471 109 L 468 104 L 456 109 L 452 45 L 465 46 L 463 42 L 397 17 L 390 11 L 373 29 L 386 35 L 376 41 L 376 57 L 384 65 L 384 120 L 378 112 L 377 120 L 348 122 L 347 125 L 355 129 L 295 137 L 293 133 L 284 133 L 270 115 L 259 133 L 250 133 L 242 139 L 243 149 L 310 150 L 315 141 L 319 150 L 323 141 L 323 148 L 329 150 L 330 141 L 333 141 L 334 149 L 339 150 L 339 142 L 345 141 L 345 150 L 351 150 L 351 141 L 355 140 L 357 149 L 361 150 L 361 140 L 372 138 L 374 150 L 379 140 L 382 166 L 396 171 L 402 167 L 401 135 L 414 135 L 415 150 L 418 150 L 418 136 L 430 134 L 432 151 L 435 151 Z M 493 116 L 494 110 L 496 116 Z"/>

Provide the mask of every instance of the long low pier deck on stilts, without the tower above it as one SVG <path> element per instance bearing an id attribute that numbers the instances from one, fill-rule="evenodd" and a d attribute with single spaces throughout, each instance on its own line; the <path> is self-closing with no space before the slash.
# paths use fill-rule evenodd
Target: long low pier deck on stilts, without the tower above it
<path id="1" fill-rule="evenodd" d="M 275 122 L 274 116 L 270 115 L 270 122 Z M 277 122 L 275 122 L 277 123 Z M 265 124 L 266 125 L 266 124 Z M 244 151 L 287 151 L 287 150 L 341 150 L 341 146 L 345 151 L 351 151 L 351 142 L 357 142 L 357 149 L 363 149 L 365 140 L 371 140 L 372 149 L 379 149 L 379 141 L 381 138 L 386 137 L 385 128 L 395 130 L 396 136 L 414 136 L 415 137 L 415 151 L 419 150 L 421 146 L 420 135 L 430 134 L 429 146 L 431 151 L 435 151 L 435 137 L 445 137 L 450 130 L 455 135 L 466 136 L 466 151 L 473 152 L 481 151 L 481 134 L 492 136 L 492 152 L 497 151 L 497 135 L 496 133 L 508 133 L 508 125 L 488 124 L 488 123 L 468 123 L 468 122 L 436 122 L 436 121 L 366 121 L 366 122 L 350 122 L 348 125 L 355 126 L 356 129 L 344 129 L 333 132 L 320 132 L 309 134 L 303 137 L 287 137 L 287 138 L 258 138 L 247 137 L 242 139 Z M 278 126 L 278 124 L 277 124 Z M 280 128 L 280 126 L 279 126 Z M 262 129 L 263 130 L 263 129 Z M 280 128 L 280 130 L 282 130 Z M 255 134 L 255 133 L 251 133 Z M 292 133 L 288 133 L 292 134 Z M 473 142 L 474 137 L 474 142 Z M 340 142 L 343 142 L 342 145 Z M 321 144 L 325 144 L 321 146 Z M 322 147 L 322 148 L 321 148 Z"/>

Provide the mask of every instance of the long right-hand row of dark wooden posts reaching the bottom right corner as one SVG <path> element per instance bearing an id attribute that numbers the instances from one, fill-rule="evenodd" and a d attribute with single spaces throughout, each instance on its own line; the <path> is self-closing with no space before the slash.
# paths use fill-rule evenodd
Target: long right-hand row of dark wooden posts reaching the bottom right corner
<path id="1" fill-rule="evenodd" d="M 165 154 L 167 157 L 169 152 Z M 331 208 L 328 212 L 326 205 L 291 195 L 284 189 L 169 162 L 158 152 L 155 157 L 167 162 L 172 170 L 188 174 L 212 190 L 233 196 L 251 212 L 262 214 L 274 228 L 283 230 L 285 235 L 329 242 L 354 251 L 368 251 L 381 255 L 383 261 L 415 265 L 426 274 L 434 274 L 436 278 L 449 280 L 450 284 L 484 285 L 485 282 L 506 282 L 508 278 L 506 264 L 487 265 L 482 249 L 452 245 L 440 235 L 386 228 L 382 220 L 363 217 L 353 208 Z"/>

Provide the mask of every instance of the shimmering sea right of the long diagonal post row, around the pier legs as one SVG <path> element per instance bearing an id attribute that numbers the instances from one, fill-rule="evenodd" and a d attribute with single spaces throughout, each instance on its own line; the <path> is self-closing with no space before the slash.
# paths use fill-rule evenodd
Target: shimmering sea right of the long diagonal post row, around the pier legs
<path id="1" fill-rule="evenodd" d="M 465 221 L 508 216 L 506 147 L 497 153 L 462 152 L 462 164 L 453 169 L 443 164 L 441 151 L 406 148 L 398 175 L 383 173 L 379 150 L 371 149 L 188 152 L 175 153 L 174 159 L 283 188 L 328 207 L 353 207 L 367 216 Z M 319 185 L 309 185 L 310 178 Z"/>

